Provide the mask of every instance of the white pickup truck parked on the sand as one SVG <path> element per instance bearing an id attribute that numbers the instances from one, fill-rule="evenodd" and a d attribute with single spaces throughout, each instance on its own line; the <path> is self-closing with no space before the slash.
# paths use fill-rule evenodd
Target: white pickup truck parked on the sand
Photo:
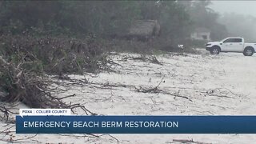
<path id="1" fill-rule="evenodd" d="M 206 50 L 210 51 L 210 54 L 236 52 L 252 56 L 256 51 L 256 43 L 246 43 L 244 38 L 225 38 L 220 42 L 208 42 Z"/>

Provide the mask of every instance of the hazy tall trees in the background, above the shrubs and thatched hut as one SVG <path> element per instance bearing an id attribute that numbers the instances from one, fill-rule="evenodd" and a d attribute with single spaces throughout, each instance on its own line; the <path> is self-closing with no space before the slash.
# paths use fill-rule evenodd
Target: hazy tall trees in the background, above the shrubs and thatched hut
<path id="1" fill-rule="evenodd" d="M 0 32 L 21 34 L 98 34 L 107 36 L 126 29 L 137 19 L 158 20 L 162 37 L 186 38 L 195 27 L 226 34 L 218 14 L 205 1 L 2 1 Z"/>

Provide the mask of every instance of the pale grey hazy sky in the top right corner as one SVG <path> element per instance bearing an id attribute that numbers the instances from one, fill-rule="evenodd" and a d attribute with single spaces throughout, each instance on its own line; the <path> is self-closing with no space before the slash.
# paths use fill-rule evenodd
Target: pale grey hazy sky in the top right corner
<path id="1" fill-rule="evenodd" d="M 256 1 L 221 1 L 212 0 L 212 5 L 209 7 L 214 11 L 223 14 L 225 12 L 234 12 L 237 14 L 250 14 L 256 17 Z"/>

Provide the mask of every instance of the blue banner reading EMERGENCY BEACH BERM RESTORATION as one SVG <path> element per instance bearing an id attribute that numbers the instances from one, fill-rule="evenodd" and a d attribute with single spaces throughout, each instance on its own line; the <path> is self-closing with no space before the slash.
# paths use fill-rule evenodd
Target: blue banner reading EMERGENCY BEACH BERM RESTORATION
<path id="1" fill-rule="evenodd" d="M 17 134 L 256 134 L 256 116 L 16 116 Z"/>

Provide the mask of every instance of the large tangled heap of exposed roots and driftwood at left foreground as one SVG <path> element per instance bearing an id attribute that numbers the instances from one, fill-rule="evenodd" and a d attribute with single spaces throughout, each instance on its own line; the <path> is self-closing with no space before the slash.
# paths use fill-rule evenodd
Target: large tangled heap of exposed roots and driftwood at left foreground
<path id="1" fill-rule="evenodd" d="M 54 89 L 49 89 L 52 81 L 43 75 L 38 76 L 38 74 L 30 70 L 24 69 L 23 65 L 25 63 L 22 61 L 15 65 L 14 63 L 6 62 L 4 58 L 0 57 L 0 73 L 2 74 L 0 87 L 8 92 L 8 94 L 0 97 L 0 101 L 22 102 L 31 108 L 70 108 L 72 111 L 76 108 L 81 108 L 86 114 L 96 115 L 80 104 L 62 102 L 64 98 L 74 97 L 74 94 L 63 98 L 53 96 L 51 93 L 54 92 Z M 0 108 L 8 118 L 8 110 L 4 107 Z"/>

